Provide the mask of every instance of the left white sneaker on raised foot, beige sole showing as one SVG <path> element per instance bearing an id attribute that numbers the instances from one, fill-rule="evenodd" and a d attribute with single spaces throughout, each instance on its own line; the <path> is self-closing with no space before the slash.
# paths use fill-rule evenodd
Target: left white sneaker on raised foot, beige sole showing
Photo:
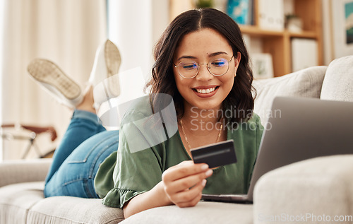
<path id="1" fill-rule="evenodd" d="M 34 59 L 28 65 L 30 76 L 62 104 L 75 108 L 83 100 L 78 84 L 59 66 L 47 59 Z"/>

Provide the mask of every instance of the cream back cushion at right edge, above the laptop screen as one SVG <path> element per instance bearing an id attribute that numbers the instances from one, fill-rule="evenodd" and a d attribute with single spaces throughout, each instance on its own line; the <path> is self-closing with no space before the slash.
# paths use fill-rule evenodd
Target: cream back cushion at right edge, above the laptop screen
<path id="1" fill-rule="evenodd" d="M 322 100 L 353 101 L 353 56 L 341 57 L 328 65 Z"/>

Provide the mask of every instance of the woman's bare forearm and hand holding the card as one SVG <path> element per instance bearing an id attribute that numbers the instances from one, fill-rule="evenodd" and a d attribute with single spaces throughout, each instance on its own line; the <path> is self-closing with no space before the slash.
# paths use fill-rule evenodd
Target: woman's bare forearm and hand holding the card
<path id="1" fill-rule="evenodd" d="M 193 161 L 184 161 L 169 167 L 163 172 L 161 182 L 124 205 L 125 218 L 149 208 L 171 204 L 179 207 L 196 206 L 201 199 L 206 178 L 212 173 L 207 164 L 194 164 Z"/>

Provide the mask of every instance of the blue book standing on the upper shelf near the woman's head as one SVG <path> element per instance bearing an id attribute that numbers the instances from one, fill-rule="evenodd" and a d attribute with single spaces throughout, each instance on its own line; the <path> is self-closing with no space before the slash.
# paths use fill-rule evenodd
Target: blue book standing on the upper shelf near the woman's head
<path id="1" fill-rule="evenodd" d="M 228 0 L 227 14 L 238 24 L 253 25 L 253 0 Z"/>

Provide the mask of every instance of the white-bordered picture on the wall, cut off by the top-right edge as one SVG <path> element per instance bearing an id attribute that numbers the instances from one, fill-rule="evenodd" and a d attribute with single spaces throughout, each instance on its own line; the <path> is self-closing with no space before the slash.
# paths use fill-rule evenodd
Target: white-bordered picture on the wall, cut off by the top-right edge
<path id="1" fill-rule="evenodd" d="M 353 54 L 353 0 L 331 0 L 333 58 Z"/>

